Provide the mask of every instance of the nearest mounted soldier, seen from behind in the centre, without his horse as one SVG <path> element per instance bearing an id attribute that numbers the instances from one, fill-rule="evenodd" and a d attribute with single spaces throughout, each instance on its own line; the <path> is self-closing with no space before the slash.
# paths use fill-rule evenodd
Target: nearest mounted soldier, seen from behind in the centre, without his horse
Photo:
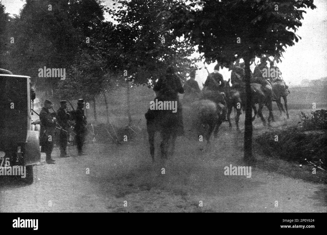
<path id="1" fill-rule="evenodd" d="M 184 93 L 185 90 L 181 84 L 181 78 L 174 72 L 174 69 L 171 65 L 169 65 L 166 69 L 166 74 L 163 78 L 159 78 L 156 85 L 153 87 L 153 91 L 156 92 L 157 97 L 154 99 L 158 99 L 158 101 L 177 101 L 178 111 L 176 112 L 177 118 L 177 135 L 184 135 L 184 126 L 182 119 L 182 107 L 178 98 L 178 93 Z M 159 110 L 160 112 L 160 110 Z M 152 120 L 158 115 L 158 110 L 151 110 L 145 114 L 145 118 L 147 121 Z"/>

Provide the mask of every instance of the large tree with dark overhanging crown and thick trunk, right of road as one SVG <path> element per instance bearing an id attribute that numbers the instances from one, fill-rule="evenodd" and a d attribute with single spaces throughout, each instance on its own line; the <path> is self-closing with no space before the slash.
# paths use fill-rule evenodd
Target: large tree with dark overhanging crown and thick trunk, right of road
<path id="1" fill-rule="evenodd" d="M 315 9 L 313 0 L 202 0 L 187 4 L 164 1 L 164 5 L 159 16 L 167 19 L 165 30 L 175 36 L 185 35 L 197 44 L 206 62 L 217 60 L 230 67 L 236 59 L 244 59 L 245 103 L 249 104 L 245 114 L 244 157 L 251 160 L 250 61 L 262 54 L 279 60 L 287 46 L 298 42 L 296 31 L 305 13 L 302 8 Z"/>

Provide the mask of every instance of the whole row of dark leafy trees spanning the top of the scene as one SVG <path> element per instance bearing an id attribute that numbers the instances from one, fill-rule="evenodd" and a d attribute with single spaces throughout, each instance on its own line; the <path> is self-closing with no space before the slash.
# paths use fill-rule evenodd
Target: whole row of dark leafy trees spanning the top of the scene
<path id="1" fill-rule="evenodd" d="M 198 45 L 207 63 L 218 61 L 228 68 L 244 59 L 250 104 L 250 62 L 262 54 L 279 60 L 300 38 L 296 31 L 303 9 L 316 8 L 313 0 L 116 0 L 113 5 L 109 9 L 100 0 L 29 0 L 13 18 L 0 5 L 0 21 L 5 22 L 0 28 L 1 55 L 10 53 L 0 66 L 25 75 L 36 75 L 43 66 L 69 68 L 66 80 L 51 80 L 52 89 L 62 98 L 95 100 L 112 80 L 146 84 L 162 76 L 168 64 L 186 75 L 199 60 L 190 57 Z M 104 21 L 104 11 L 115 24 Z M 14 43 L 9 43 L 11 37 Z M 48 78 L 37 81 L 49 84 Z M 247 160 L 252 158 L 251 114 L 248 106 Z"/>

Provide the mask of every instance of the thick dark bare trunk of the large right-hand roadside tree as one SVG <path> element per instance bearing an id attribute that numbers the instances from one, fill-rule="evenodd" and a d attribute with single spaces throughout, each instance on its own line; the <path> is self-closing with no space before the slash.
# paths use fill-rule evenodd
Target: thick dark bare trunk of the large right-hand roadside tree
<path id="1" fill-rule="evenodd" d="M 244 160 L 252 160 L 252 94 L 251 94 L 251 76 L 250 76 L 250 57 L 245 57 L 245 130 L 244 130 Z"/>

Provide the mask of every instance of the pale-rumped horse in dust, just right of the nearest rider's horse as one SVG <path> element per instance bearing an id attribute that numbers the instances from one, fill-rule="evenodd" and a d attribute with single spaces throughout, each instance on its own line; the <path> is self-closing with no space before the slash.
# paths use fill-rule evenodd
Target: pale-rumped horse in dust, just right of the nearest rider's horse
<path id="1" fill-rule="evenodd" d="M 209 90 L 204 87 L 201 91 L 199 101 L 195 102 L 197 127 L 208 127 L 204 133 L 207 144 L 210 143 L 210 137 L 214 131 L 214 138 L 218 135 L 219 126 L 225 121 L 226 109 L 221 99 L 226 99 L 225 94 L 220 92 L 224 90 L 226 84 L 221 84 L 219 90 Z"/>

